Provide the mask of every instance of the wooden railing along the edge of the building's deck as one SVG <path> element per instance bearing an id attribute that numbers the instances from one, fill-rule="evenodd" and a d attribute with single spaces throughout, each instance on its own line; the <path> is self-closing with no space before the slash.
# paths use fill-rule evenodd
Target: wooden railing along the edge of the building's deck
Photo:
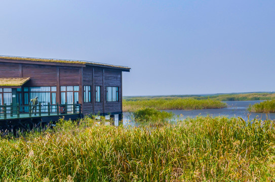
<path id="1" fill-rule="evenodd" d="M 33 108 L 34 107 L 34 108 Z M 36 108 L 36 112 L 35 112 Z M 68 115 L 68 114 L 81 114 L 80 104 L 50 104 L 47 103 L 42 105 L 0 105 L 0 119 L 7 118 L 26 118 L 26 117 L 37 117 L 37 116 L 54 116 L 54 115 Z"/>

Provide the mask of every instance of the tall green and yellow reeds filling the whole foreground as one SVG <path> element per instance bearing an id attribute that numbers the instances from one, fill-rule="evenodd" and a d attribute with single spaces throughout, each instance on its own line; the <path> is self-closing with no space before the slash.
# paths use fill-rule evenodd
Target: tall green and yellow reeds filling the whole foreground
<path id="1" fill-rule="evenodd" d="M 197 117 L 162 127 L 61 120 L 0 140 L 2 181 L 272 181 L 271 120 Z"/>

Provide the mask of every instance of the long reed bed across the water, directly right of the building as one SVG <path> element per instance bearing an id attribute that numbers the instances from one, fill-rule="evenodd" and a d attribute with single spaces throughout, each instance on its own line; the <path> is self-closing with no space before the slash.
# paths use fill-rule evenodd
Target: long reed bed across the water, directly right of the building
<path id="1" fill-rule="evenodd" d="M 224 108 L 226 104 L 212 99 L 197 100 L 192 98 L 157 98 L 123 101 L 124 112 L 134 112 L 146 107 L 159 110 L 191 110 Z"/>

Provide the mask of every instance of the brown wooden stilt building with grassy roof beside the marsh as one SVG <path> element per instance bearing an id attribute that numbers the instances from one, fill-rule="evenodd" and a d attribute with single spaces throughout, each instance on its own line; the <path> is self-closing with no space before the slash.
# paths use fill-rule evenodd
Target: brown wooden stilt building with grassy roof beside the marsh
<path id="1" fill-rule="evenodd" d="M 19 114 L 28 113 L 30 99 L 38 96 L 42 111 L 60 114 L 58 105 L 79 104 L 84 115 L 119 115 L 121 119 L 124 71 L 130 68 L 89 61 L 0 56 L 0 106 L 19 105 Z M 49 104 L 51 108 L 47 108 Z M 69 112 L 73 107 L 65 109 Z"/>

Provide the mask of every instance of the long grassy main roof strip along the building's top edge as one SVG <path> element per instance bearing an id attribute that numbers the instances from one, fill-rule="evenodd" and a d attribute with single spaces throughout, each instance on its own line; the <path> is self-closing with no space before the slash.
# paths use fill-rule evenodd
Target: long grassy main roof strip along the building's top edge
<path id="1" fill-rule="evenodd" d="M 13 57 L 13 56 L 0 56 L 0 59 L 7 59 L 7 60 L 24 60 L 24 61 L 37 61 L 37 62 L 48 62 L 48 63 L 65 63 L 65 64 L 84 64 L 84 65 L 91 65 L 91 66 L 107 66 L 107 67 L 114 67 L 114 68 L 122 68 L 122 69 L 131 69 L 126 66 L 117 66 L 111 64 L 104 64 L 104 63 L 96 63 L 96 62 L 89 62 L 89 61 L 78 61 L 78 60 L 59 60 L 59 59 L 45 59 L 45 58 L 28 58 L 28 57 Z"/>

